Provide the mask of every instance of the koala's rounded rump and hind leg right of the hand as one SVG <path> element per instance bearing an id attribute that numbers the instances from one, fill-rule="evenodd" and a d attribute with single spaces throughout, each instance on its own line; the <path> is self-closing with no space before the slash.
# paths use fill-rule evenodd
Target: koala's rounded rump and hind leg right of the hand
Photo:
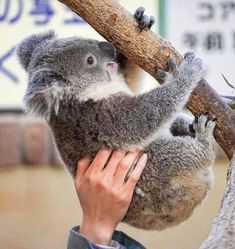
<path id="1" fill-rule="evenodd" d="M 164 229 L 187 219 L 213 182 L 215 120 L 193 124 L 195 138 L 163 137 L 145 150 L 147 165 L 137 183 L 125 221 L 145 229 Z"/>

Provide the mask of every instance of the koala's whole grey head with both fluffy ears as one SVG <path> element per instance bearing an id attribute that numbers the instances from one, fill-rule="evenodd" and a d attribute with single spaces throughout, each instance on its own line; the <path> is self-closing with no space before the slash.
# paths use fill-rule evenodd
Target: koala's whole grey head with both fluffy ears
<path id="1" fill-rule="evenodd" d="M 78 37 L 58 39 L 54 32 L 33 34 L 17 47 L 29 75 L 25 110 L 48 119 L 61 99 L 81 97 L 93 85 L 111 82 L 117 73 L 116 49 L 111 43 Z"/>

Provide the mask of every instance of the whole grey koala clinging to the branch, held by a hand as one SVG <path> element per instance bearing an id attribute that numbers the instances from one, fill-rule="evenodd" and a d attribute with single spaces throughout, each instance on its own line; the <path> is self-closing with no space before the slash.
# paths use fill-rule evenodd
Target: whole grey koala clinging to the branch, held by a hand
<path id="1" fill-rule="evenodd" d="M 135 17 L 141 30 L 153 22 L 143 11 Z M 215 159 L 215 119 L 179 117 L 203 77 L 201 59 L 188 52 L 176 65 L 169 57 L 168 72 L 158 69 L 163 86 L 136 94 L 141 70 L 109 42 L 46 32 L 25 38 L 17 55 L 29 76 L 25 109 L 47 120 L 73 177 L 78 160 L 101 148 L 141 150 L 148 162 L 123 221 L 161 230 L 192 214 L 211 187 Z"/>

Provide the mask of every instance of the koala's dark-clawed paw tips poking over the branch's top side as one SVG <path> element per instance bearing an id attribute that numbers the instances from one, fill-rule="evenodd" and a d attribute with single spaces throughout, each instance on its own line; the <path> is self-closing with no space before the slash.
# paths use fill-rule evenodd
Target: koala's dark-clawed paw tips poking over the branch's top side
<path id="1" fill-rule="evenodd" d="M 139 7 L 134 13 L 134 18 L 138 22 L 140 32 L 145 28 L 151 29 L 155 23 L 155 18 L 153 16 L 144 15 L 144 11 L 144 7 Z"/>

